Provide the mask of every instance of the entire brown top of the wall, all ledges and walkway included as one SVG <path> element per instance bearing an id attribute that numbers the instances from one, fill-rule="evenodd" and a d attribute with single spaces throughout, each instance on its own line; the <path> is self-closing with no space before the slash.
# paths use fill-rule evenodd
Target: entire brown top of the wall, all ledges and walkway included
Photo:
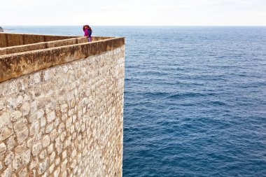
<path id="1" fill-rule="evenodd" d="M 0 34 L 0 83 L 125 45 L 123 37 Z M 6 47 L 3 47 L 6 46 Z"/>

